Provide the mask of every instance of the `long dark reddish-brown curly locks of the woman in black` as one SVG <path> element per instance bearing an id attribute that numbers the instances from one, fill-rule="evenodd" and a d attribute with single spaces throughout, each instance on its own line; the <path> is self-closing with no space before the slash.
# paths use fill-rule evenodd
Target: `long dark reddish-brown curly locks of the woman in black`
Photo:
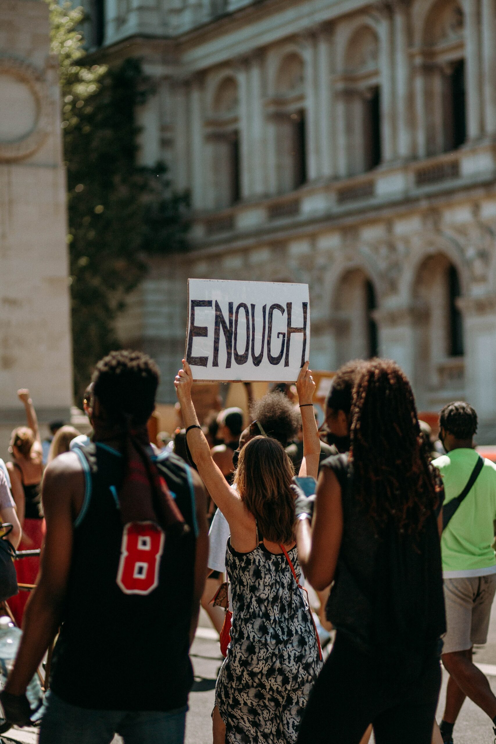
<path id="1" fill-rule="evenodd" d="M 437 486 L 421 449 L 407 376 L 390 359 L 371 359 L 353 389 L 350 462 L 355 493 L 376 532 L 392 518 L 419 534 L 437 505 Z"/>

